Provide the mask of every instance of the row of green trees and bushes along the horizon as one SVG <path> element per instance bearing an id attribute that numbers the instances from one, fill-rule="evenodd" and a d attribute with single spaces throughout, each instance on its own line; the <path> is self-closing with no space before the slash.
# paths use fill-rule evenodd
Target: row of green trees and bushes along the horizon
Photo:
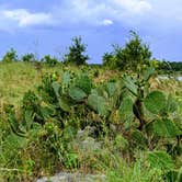
<path id="1" fill-rule="evenodd" d="M 111 53 L 105 53 L 102 57 L 102 66 L 109 69 L 132 70 L 136 71 L 140 67 L 149 65 L 155 66 L 160 71 L 182 71 L 182 62 L 166 61 L 151 58 L 152 54 L 149 46 L 143 43 L 143 39 L 136 32 L 130 31 L 129 41 L 121 47 L 113 45 Z M 69 46 L 68 53 L 64 55 L 61 62 L 66 65 L 87 65 L 90 57 L 87 55 L 87 45 L 82 43 L 81 36 L 72 38 L 72 45 Z M 16 50 L 11 48 L 2 58 L 3 62 L 25 61 L 25 62 L 45 62 L 49 66 L 56 66 L 60 61 L 50 55 L 44 56 L 37 60 L 33 53 L 25 54 L 21 58 L 18 57 Z"/>

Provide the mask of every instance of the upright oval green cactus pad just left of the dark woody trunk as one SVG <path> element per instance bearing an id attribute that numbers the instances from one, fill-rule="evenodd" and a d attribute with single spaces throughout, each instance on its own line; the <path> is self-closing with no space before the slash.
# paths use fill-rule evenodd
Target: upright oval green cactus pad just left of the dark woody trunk
<path id="1" fill-rule="evenodd" d="M 120 116 L 123 122 L 130 122 L 134 118 L 133 101 L 130 98 L 125 98 L 120 106 Z"/>

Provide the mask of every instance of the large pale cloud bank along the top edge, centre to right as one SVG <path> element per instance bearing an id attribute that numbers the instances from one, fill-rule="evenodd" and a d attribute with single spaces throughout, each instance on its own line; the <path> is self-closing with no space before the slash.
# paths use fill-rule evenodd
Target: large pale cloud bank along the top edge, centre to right
<path id="1" fill-rule="evenodd" d="M 58 24 L 111 25 L 140 22 L 151 9 L 147 0 L 65 0 L 54 8 L 53 14 Z"/>

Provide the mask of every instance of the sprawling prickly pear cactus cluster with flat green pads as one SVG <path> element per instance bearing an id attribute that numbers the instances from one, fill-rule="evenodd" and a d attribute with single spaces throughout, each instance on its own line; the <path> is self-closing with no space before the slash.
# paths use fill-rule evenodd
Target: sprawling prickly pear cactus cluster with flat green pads
<path id="1" fill-rule="evenodd" d="M 50 118 L 60 121 L 62 125 L 65 120 L 78 116 L 80 121 L 92 123 L 91 113 L 94 113 L 109 127 L 111 123 L 117 123 L 125 129 L 148 134 L 152 128 L 157 136 L 178 137 L 181 127 L 172 120 L 177 107 L 174 99 L 159 90 L 149 91 L 148 80 L 153 71 L 148 67 L 139 76 L 123 75 L 117 81 L 96 86 L 86 71 L 65 71 L 60 79 L 45 76 L 38 87 L 38 96 L 31 91 L 24 95 L 22 123 L 27 125 L 26 129 L 34 122 L 44 124 Z"/>

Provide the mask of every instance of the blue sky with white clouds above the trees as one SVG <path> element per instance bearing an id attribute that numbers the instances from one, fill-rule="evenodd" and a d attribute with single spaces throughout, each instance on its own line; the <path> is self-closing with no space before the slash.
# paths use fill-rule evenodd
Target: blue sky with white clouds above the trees
<path id="1" fill-rule="evenodd" d="M 11 47 L 19 55 L 60 57 L 81 35 L 89 62 L 101 62 L 112 44 L 124 45 L 129 30 L 149 44 L 153 57 L 182 61 L 181 0 L 0 1 L 0 57 Z"/>

